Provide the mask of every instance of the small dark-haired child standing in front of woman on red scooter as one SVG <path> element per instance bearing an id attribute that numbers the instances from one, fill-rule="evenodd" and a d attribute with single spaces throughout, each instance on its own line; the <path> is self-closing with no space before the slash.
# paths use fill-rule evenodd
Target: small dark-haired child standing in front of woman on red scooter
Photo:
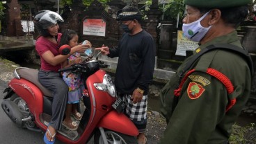
<path id="1" fill-rule="evenodd" d="M 67 29 L 63 32 L 61 37 L 60 46 L 68 44 L 71 48 L 77 46 L 79 37 L 74 30 Z M 90 44 L 90 42 L 88 42 Z M 91 45 L 91 44 L 90 44 Z M 81 62 L 80 53 L 74 53 L 67 58 L 65 62 L 61 64 L 62 68 L 67 68 L 72 66 L 72 64 L 79 64 Z M 63 120 L 63 125 L 70 130 L 77 130 L 77 123 L 72 120 L 71 116 L 75 120 L 81 120 L 81 114 L 77 111 L 79 106 L 79 100 L 81 99 L 83 89 L 83 80 L 79 73 L 71 73 L 71 71 L 63 72 L 63 80 L 69 87 L 67 107 L 65 110 L 65 119 Z"/>

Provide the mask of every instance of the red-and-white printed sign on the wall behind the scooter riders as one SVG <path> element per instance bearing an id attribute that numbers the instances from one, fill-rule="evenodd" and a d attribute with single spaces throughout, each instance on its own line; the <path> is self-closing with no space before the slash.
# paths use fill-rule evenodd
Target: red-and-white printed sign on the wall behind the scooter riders
<path id="1" fill-rule="evenodd" d="M 104 19 L 84 19 L 83 35 L 95 35 L 105 37 L 106 21 L 104 21 Z"/>

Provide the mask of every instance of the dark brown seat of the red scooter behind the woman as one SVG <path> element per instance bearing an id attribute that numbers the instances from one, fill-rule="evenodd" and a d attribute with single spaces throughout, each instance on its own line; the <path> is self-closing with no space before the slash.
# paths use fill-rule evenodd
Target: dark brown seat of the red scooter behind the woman
<path id="1" fill-rule="evenodd" d="M 42 91 L 42 93 L 44 93 L 45 96 L 52 97 L 51 91 L 42 86 L 42 84 L 40 84 L 40 82 L 38 81 L 37 69 L 21 68 L 17 69 L 17 72 L 19 73 L 19 76 L 21 78 L 29 80 L 29 82 L 33 82 L 33 84 L 38 86 L 38 88 Z"/>

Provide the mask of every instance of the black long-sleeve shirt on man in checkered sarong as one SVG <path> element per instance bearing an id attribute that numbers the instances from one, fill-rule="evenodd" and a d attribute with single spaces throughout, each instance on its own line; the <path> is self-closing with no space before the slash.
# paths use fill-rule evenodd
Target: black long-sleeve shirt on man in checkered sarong
<path id="1" fill-rule="evenodd" d="M 155 44 L 145 30 L 136 35 L 124 33 L 117 48 L 110 48 L 109 57 L 118 57 L 115 87 L 118 92 L 132 94 L 137 87 L 148 93 L 155 61 Z"/>

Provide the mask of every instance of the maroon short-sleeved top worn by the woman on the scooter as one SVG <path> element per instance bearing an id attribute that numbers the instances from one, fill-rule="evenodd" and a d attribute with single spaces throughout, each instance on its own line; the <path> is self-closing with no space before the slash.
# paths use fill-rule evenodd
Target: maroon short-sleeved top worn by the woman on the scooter
<path id="1" fill-rule="evenodd" d="M 61 33 L 58 33 L 58 40 L 57 40 L 58 43 L 61 40 L 61 35 L 62 35 Z M 45 37 L 41 36 L 36 40 L 35 49 L 38 52 L 38 55 L 40 55 L 40 60 L 41 60 L 40 69 L 44 71 L 56 71 L 56 72 L 58 72 L 58 69 L 61 69 L 61 64 L 57 64 L 56 66 L 53 66 L 42 58 L 42 54 L 44 54 L 47 51 L 51 51 L 51 53 L 54 54 L 54 56 L 59 55 L 60 53 L 58 53 L 58 48 L 59 48 L 58 44 L 54 44 L 53 42 L 49 41 Z"/>

